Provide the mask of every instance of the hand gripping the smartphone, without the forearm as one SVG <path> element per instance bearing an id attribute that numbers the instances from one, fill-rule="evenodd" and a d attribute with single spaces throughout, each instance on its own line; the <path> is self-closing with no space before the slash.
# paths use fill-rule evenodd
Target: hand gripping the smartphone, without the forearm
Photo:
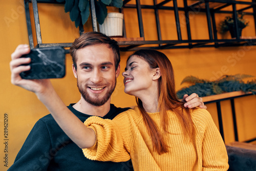
<path id="1" fill-rule="evenodd" d="M 45 90 L 51 87 L 50 80 L 47 79 L 23 79 L 20 77 L 20 73 L 30 70 L 30 66 L 21 66 L 23 64 L 30 63 L 30 58 L 20 58 L 22 55 L 28 54 L 30 48 L 28 45 L 19 45 L 16 50 L 11 54 L 10 70 L 11 70 L 11 82 L 12 84 L 22 87 L 34 93 L 43 93 Z"/>

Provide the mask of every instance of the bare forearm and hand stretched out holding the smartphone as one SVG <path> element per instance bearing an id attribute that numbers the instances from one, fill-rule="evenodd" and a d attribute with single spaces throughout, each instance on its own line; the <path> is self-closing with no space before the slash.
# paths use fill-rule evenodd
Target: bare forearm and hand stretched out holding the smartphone
<path id="1" fill-rule="evenodd" d="M 96 135 L 92 129 L 86 127 L 62 102 L 55 92 L 49 79 L 22 79 L 20 73 L 29 71 L 30 66 L 22 66 L 31 61 L 21 58 L 30 52 L 28 45 L 19 45 L 12 53 L 10 62 L 12 84 L 34 92 L 37 98 L 45 104 L 61 129 L 80 147 L 88 148 L 95 144 Z"/>

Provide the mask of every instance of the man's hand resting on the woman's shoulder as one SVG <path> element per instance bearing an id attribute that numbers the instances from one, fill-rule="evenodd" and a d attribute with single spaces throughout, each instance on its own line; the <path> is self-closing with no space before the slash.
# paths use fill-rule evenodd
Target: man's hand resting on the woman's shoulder
<path id="1" fill-rule="evenodd" d="M 191 109 L 191 108 L 196 108 L 197 106 L 199 106 L 199 108 L 201 108 L 201 109 L 207 109 L 207 106 L 204 105 L 204 103 L 203 103 L 203 99 L 201 97 L 199 97 L 198 94 L 196 94 L 196 93 L 193 93 L 190 96 L 185 94 L 183 96 L 182 101 L 186 102 L 184 104 L 185 108 Z"/>

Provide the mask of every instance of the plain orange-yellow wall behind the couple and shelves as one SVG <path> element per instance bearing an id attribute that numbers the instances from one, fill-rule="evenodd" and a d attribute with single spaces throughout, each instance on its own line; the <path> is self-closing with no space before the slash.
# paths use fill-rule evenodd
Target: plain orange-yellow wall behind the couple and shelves
<path id="1" fill-rule="evenodd" d="M 142 3 L 148 1 L 141 1 Z M 180 3 L 181 1 L 179 1 Z M 182 4 L 179 4 L 182 6 Z M 72 42 L 79 36 L 78 29 L 74 23 L 70 21 L 69 13 L 65 13 L 63 5 L 53 4 L 38 4 L 42 42 Z M 139 37 L 138 21 L 136 19 L 136 10 L 125 9 L 125 23 L 127 37 Z M 170 17 L 168 17 L 170 15 Z M 173 12 L 161 11 L 161 29 L 163 39 L 177 39 L 175 29 L 175 20 Z M 182 19 L 184 14 L 180 13 Z M 219 15 L 216 20 L 219 21 L 224 16 Z M 243 36 L 255 36 L 253 20 L 250 16 L 245 16 L 250 19 L 250 26 L 243 30 Z M 11 53 L 19 44 L 28 44 L 28 33 L 26 26 L 26 18 L 24 12 L 23 1 L 10 0 L 1 3 L 0 14 L 1 28 L 1 58 L 0 58 L 0 73 L 1 73 L 1 98 L 0 98 L 0 123 L 1 123 L 1 145 L 0 170 L 6 170 L 4 166 L 4 115 L 8 115 L 8 166 L 10 166 L 20 147 L 24 143 L 27 135 L 32 129 L 34 123 L 48 114 L 47 109 L 42 105 L 36 96 L 23 90 L 22 88 L 13 86 L 10 83 L 9 62 Z M 144 31 L 146 40 L 154 40 L 157 38 L 154 11 L 143 10 Z M 184 19 L 184 18 L 183 18 Z M 206 17 L 201 13 L 190 15 L 191 32 L 193 38 L 207 39 Z M 146 21 L 146 22 L 145 22 Z M 85 30 L 92 31 L 91 21 L 86 24 Z M 225 35 L 229 36 L 229 35 Z M 185 39 L 186 30 L 182 25 L 182 37 Z M 221 35 L 218 35 L 221 38 Z M 175 69 L 175 79 L 177 89 L 183 87 L 180 82 L 185 76 L 194 75 L 204 79 L 215 79 L 223 74 L 250 74 L 256 75 L 256 47 L 230 47 L 230 48 L 196 48 L 196 49 L 173 49 L 162 50 L 172 61 Z M 121 52 L 121 69 L 124 69 L 126 57 L 132 52 Z M 57 93 L 68 105 L 69 103 L 77 102 L 80 98 L 76 88 L 76 79 L 72 73 L 71 56 L 67 55 L 67 75 L 62 79 L 53 79 L 52 82 Z M 117 80 L 117 87 L 112 96 L 112 103 L 117 106 L 125 107 L 135 105 L 134 97 L 124 94 L 122 76 Z M 241 141 L 255 137 L 255 121 L 256 121 L 256 99 L 255 96 L 243 97 L 236 100 L 236 110 L 238 115 L 239 138 Z M 224 101 L 222 104 L 224 132 L 226 142 L 234 140 L 231 110 L 229 101 Z M 208 104 L 208 111 L 212 114 L 216 124 L 217 112 L 215 104 Z M 40 135 L 38 135 L 40 136 Z"/>

